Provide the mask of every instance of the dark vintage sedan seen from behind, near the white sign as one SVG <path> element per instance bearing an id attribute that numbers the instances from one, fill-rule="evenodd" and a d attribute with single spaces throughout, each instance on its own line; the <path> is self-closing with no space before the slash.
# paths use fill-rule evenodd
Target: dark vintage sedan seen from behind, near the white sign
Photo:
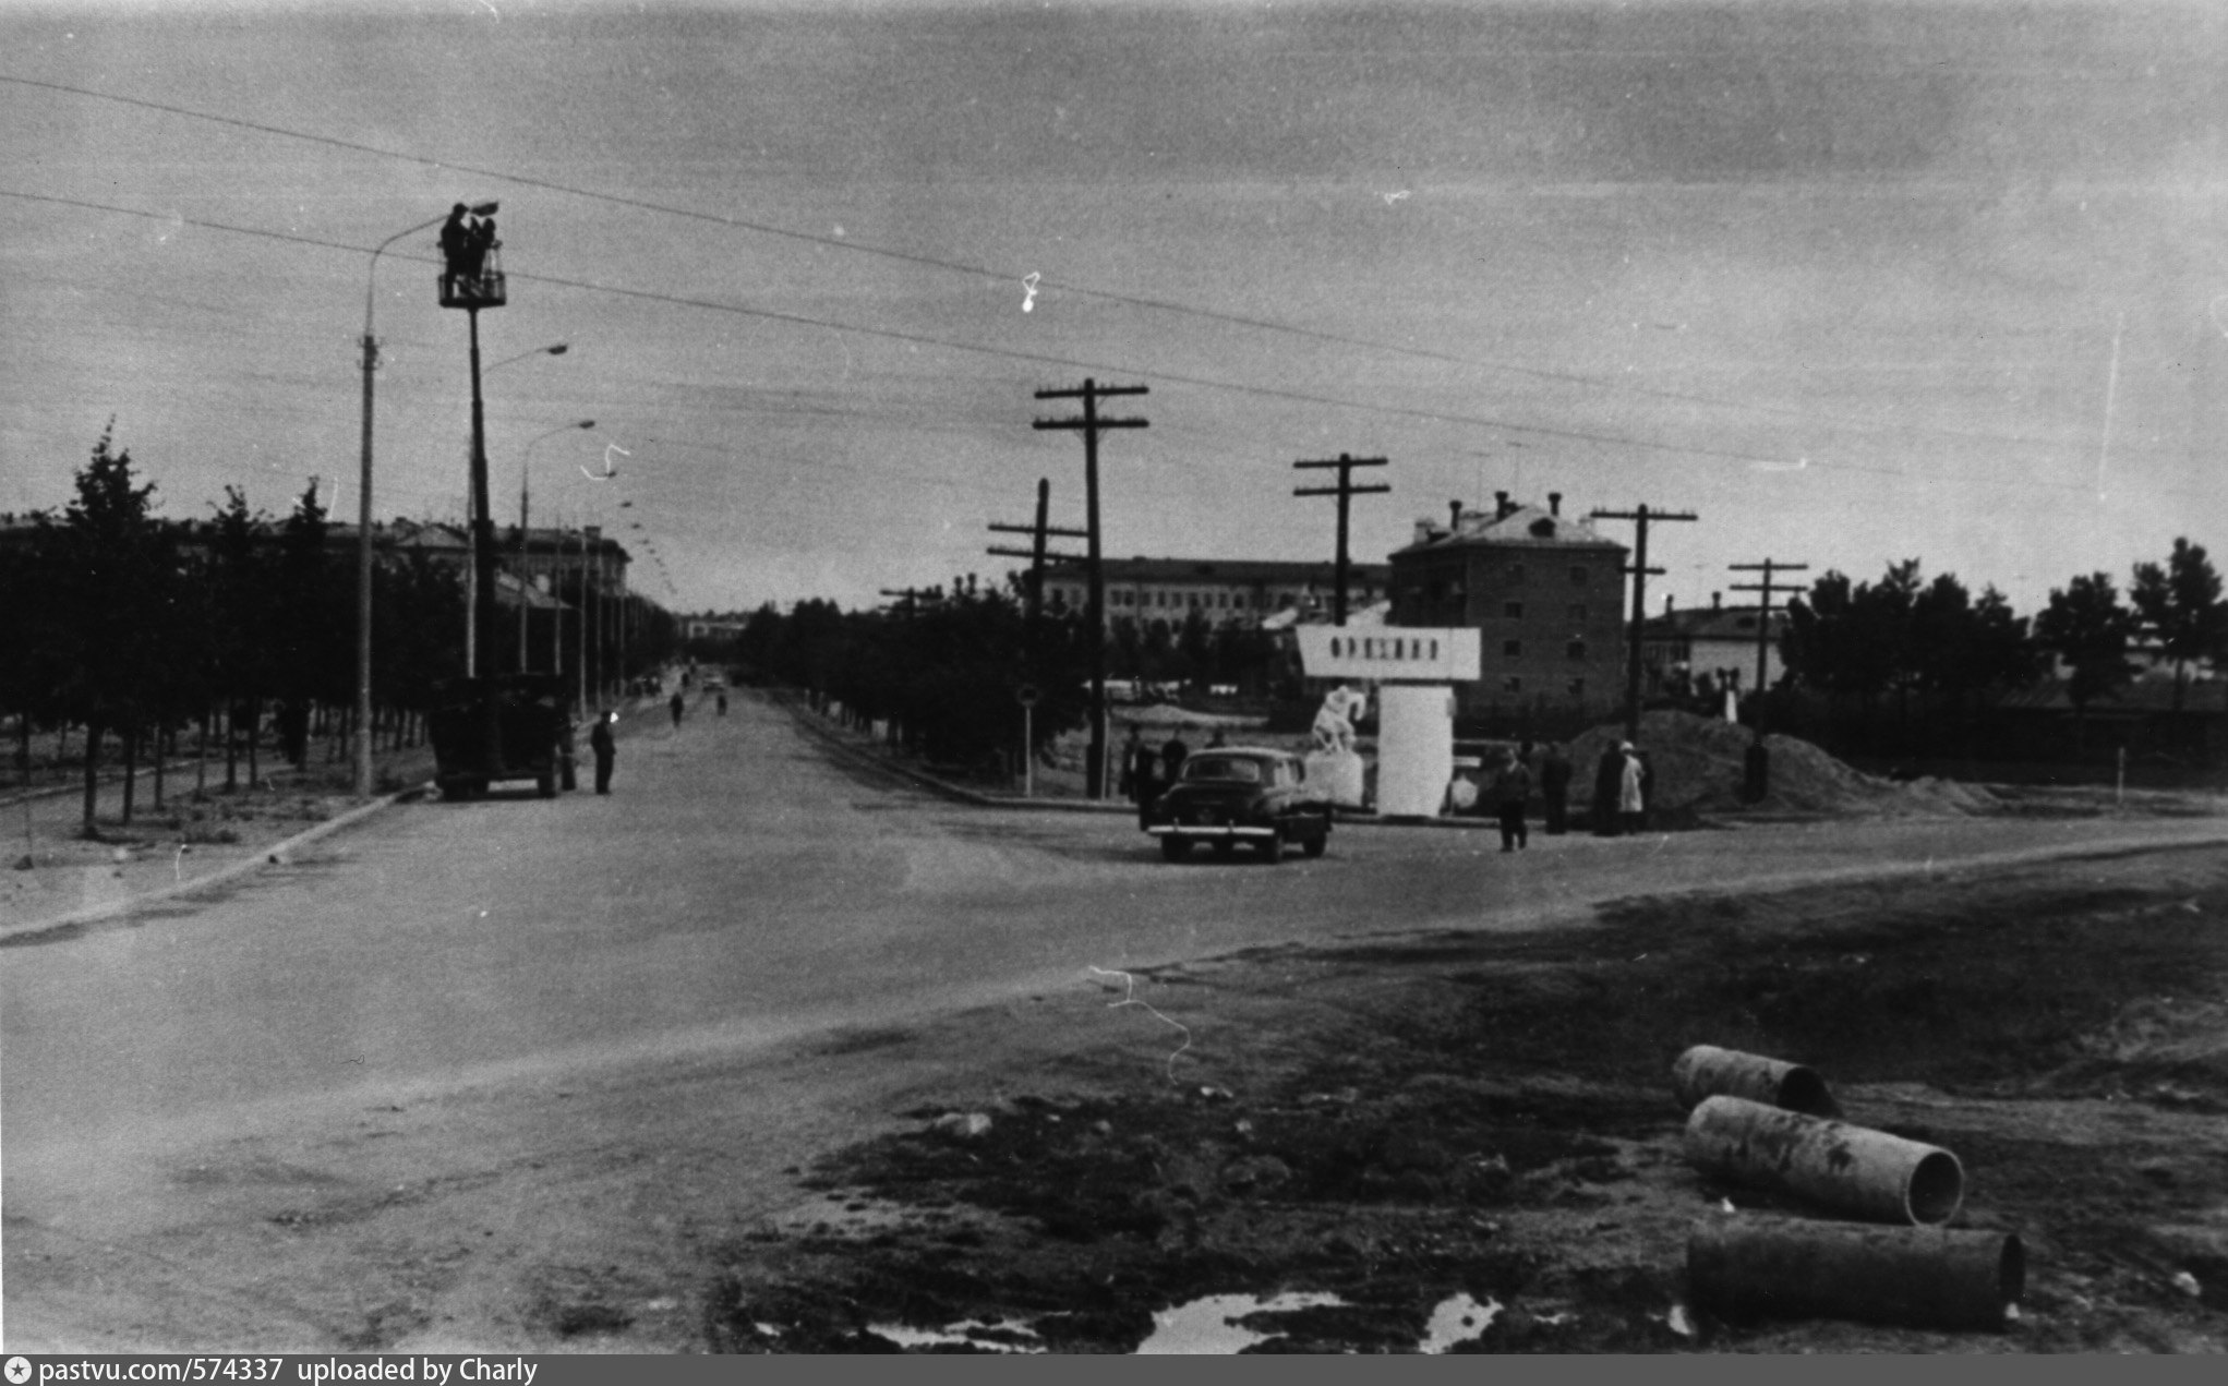
<path id="1" fill-rule="evenodd" d="M 1145 831 L 1161 840 L 1161 856 L 1172 862 L 1199 842 L 1216 856 L 1245 842 L 1272 862 L 1292 845 L 1323 856 L 1330 804 L 1308 791 L 1306 778 L 1306 762 L 1290 751 L 1210 746 L 1190 755 L 1167 793 L 1152 802 Z"/>

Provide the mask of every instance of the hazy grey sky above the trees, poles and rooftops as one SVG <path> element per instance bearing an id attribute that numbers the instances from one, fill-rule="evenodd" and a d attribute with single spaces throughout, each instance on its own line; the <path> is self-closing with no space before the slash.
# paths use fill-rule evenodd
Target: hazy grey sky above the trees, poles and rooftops
<path id="1" fill-rule="evenodd" d="M 163 515 L 354 519 L 370 296 L 374 513 L 461 517 L 466 314 L 372 252 L 495 198 L 495 517 L 677 611 L 1003 573 L 1096 379 L 1114 557 L 1328 559 L 1350 452 L 1359 562 L 1555 490 L 1698 517 L 1651 608 L 2027 613 L 2228 559 L 2224 123 L 2195 0 L 0 0 L 0 510 L 114 419 Z"/>

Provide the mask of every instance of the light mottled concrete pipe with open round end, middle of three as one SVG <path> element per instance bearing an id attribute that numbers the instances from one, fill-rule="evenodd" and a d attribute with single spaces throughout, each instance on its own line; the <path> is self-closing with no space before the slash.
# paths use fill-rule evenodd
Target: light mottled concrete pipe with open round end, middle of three
<path id="1" fill-rule="evenodd" d="M 1965 1201 L 1965 1170 L 1938 1145 L 1742 1096 L 1713 1096 L 1693 1110 L 1687 1161 L 1876 1223 L 1945 1223 Z"/>

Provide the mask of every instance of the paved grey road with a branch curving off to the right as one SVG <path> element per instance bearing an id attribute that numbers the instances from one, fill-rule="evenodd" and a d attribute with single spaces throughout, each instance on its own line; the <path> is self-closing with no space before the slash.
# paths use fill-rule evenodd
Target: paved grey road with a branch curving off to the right
<path id="1" fill-rule="evenodd" d="M 1522 927 L 1622 894 L 1936 869 L 2228 820 L 1918 822 L 1649 840 L 1341 829 L 1170 867 L 1118 816 L 971 809 L 735 697 L 622 742 L 617 793 L 419 804 L 214 900 L 0 949 L 9 1210 L 89 1150 L 250 1110 L 737 1050 L 1286 938 Z"/>

